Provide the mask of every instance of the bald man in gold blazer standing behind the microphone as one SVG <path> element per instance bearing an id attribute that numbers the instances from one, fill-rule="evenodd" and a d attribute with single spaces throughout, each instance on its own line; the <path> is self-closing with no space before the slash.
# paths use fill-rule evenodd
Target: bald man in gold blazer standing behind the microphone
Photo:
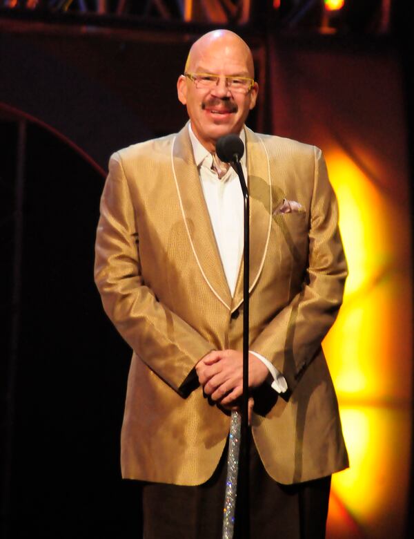
<path id="1" fill-rule="evenodd" d="M 324 536 L 331 473 L 348 465 L 321 342 L 346 261 L 321 152 L 244 126 L 248 46 L 215 30 L 177 83 L 190 122 L 112 155 L 95 278 L 133 355 L 124 477 L 144 482 L 144 537 L 221 536 L 228 410 L 242 393 L 242 194 L 215 155 L 240 134 L 250 191 L 251 536 Z"/>

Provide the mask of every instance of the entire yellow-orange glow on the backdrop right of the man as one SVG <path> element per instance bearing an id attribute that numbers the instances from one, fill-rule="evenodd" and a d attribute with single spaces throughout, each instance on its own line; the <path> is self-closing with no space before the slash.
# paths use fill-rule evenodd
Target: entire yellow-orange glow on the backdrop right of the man
<path id="1" fill-rule="evenodd" d="M 410 209 L 344 151 L 326 153 L 326 161 L 349 276 L 323 346 L 351 462 L 333 476 L 327 537 L 403 537 L 413 379 Z"/>

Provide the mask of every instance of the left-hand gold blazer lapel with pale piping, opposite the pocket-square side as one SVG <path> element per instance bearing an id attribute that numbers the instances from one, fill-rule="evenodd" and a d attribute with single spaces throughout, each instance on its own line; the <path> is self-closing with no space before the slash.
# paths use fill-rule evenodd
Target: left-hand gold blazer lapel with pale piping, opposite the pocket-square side
<path id="1" fill-rule="evenodd" d="M 201 275 L 217 299 L 230 309 L 231 294 L 195 165 L 188 125 L 172 142 L 171 164 L 188 239 Z"/>

